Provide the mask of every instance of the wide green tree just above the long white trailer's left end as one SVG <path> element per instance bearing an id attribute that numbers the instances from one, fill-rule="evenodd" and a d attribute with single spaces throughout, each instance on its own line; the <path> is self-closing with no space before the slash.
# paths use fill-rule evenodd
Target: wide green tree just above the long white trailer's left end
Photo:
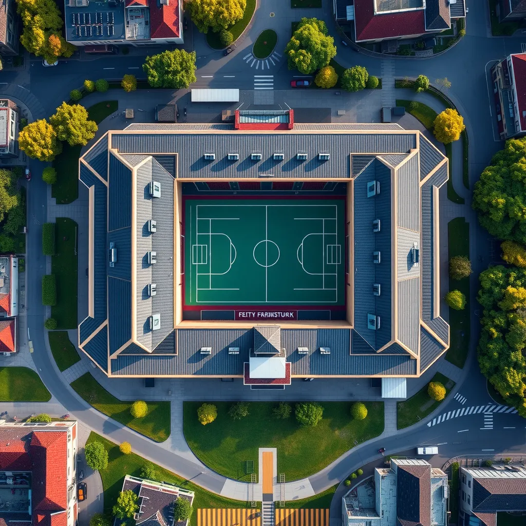
<path id="1" fill-rule="evenodd" d="M 148 84 L 154 88 L 188 88 L 196 82 L 196 53 L 184 49 L 146 57 L 143 64 Z"/>

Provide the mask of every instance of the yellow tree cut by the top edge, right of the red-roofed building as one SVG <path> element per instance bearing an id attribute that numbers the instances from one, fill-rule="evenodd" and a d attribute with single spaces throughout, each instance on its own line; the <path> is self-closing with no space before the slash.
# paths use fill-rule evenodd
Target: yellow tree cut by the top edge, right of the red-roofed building
<path id="1" fill-rule="evenodd" d="M 188 0 L 187 7 L 201 33 L 208 33 L 209 29 L 217 33 L 241 20 L 247 0 Z"/>

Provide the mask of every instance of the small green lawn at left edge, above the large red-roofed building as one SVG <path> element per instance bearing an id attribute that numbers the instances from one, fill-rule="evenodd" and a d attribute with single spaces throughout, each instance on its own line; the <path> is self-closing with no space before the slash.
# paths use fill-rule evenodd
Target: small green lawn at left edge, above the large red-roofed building
<path id="1" fill-rule="evenodd" d="M 32 369 L 0 367 L 0 402 L 47 402 L 46 386 Z"/>

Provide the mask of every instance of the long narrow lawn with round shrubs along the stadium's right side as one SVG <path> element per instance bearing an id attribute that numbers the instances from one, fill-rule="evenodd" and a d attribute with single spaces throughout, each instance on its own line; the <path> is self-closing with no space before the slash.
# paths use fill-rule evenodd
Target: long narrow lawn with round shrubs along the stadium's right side
<path id="1" fill-rule="evenodd" d="M 463 217 L 456 217 L 448 223 L 448 251 L 450 259 L 453 256 L 466 256 L 469 259 L 469 223 Z M 460 290 L 467 300 L 465 309 L 449 309 L 450 347 L 446 360 L 462 368 L 468 357 L 471 328 L 469 278 L 449 278 L 449 290 Z"/>

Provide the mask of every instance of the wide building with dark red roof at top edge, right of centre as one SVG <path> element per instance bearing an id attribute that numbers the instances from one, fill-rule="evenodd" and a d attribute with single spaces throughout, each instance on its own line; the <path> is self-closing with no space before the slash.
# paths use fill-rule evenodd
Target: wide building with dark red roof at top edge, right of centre
<path id="1" fill-rule="evenodd" d="M 433 36 L 466 17 L 464 0 L 333 0 L 333 8 L 356 42 Z"/>

